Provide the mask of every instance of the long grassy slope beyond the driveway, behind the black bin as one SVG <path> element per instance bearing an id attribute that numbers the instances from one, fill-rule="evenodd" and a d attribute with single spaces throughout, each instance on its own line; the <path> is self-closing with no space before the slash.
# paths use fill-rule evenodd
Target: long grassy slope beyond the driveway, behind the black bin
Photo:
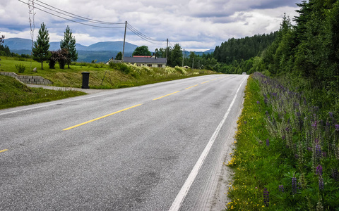
<path id="1" fill-rule="evenodd" d="M 32 69 L 37 68 L 37 72 L 30 70 L 30 60 L 24 58 L 1 57 L 0 71 L 16 72 L 16 66 L 25 66 L 25 72 L 20 75 L 40 75 L 53 82 L 57 87 L 81 87 L 81 72 L 90 72 L 90 89 L 116 89 L 121 87 L 136 87 L 144 84 L 164 82 L 172 79 L 182 79 L 198 75 L 215 74 L 210 70 L 186 70 L 184 68 L 141 68 L 136 65 L 105 65 L 103 63 L 73 63 L 70 69 L 67 65 L 64 70 L 55 65 L 55 69 L 49 69 L 49 65 L 44 63 L 44 70 L 41 64 L 32 61 Z M 102 81 L 103 79 L 103 81 Z"/>

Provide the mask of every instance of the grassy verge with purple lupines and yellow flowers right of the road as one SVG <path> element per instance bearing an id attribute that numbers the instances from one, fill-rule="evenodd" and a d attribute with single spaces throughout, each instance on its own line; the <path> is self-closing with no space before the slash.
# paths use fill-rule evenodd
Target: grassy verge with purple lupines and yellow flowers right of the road
<path id="1" fill-rule="evenodd" d="M 339 123 L 286 84 L 249 77 L 227 210 L 339 210 Z"/>

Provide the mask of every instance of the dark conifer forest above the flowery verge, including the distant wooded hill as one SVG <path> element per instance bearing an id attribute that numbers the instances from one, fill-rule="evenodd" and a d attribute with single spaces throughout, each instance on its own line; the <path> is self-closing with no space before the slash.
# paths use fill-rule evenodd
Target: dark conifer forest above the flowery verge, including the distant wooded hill
<path id="1" fill-rule="evenodd" d="M 299 15 L 284 15 L 278 32 L 216 46 L 215 70 L 286 77 L 310 92 L 314 106 L 339 117 L 339 1 L 309 0 L 297 6 Z"/>

